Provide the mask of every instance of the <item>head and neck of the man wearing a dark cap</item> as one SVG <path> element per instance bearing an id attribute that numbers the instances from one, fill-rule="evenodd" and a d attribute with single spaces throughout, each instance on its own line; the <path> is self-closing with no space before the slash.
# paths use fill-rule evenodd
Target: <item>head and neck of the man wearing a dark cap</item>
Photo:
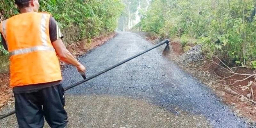
<path id="1" fill-rule="evenodd" d="M 29 8 L 32 11 L 38 12 L 39 2 L 38 0 L 15 0 L 15 4 L 20 10 Z"/>

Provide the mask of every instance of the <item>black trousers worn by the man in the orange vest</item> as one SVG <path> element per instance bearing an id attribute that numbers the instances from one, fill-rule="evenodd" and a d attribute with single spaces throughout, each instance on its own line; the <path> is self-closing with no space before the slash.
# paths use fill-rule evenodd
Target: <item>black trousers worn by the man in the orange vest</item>
<path id="1" fill-rule="evenodd" d="M 14 93 L 14 98 L 19 128 L 43 128 L 44 118 L 51 128 L 67 127 L 62 84 L 33 93 Z"/>

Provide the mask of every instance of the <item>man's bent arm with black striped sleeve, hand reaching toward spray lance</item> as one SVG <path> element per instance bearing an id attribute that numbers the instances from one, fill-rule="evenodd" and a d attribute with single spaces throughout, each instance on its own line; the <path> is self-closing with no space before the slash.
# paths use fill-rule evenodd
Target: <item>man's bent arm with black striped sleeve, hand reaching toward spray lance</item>
<path id="1" fill-rule="evenodd" d="M 54 47 L 60 59 L 68 64 L 76 66 L 79 72 L 85 72 L 85 67 L 81 63 L 79 63 L 78 60 L 65 47 L 64 43 L 61 40 L 61 38 L 63 38 L 63 35 L 60 32 L 60 28 L 58 27 L 57 22 L 52 17 L 50 18 L 49 32 L 52 46 Z"/>

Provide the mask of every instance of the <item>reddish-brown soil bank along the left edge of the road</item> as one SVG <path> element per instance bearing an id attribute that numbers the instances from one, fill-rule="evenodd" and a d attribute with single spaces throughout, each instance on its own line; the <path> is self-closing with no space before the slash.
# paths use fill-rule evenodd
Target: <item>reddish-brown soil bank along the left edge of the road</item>
<path id="1" fill-rule="evenodd" d="M 107 36 L 102 36 L 99 38 L 94 38 L 91 41 L 84 40 L 84 41 L 77 41 L 71 44 L 67 44 L 66 47 L 70 51 L 70 53 L 75 56 L 79 57 L 87 53 L 88 51 L 95 49 L 109 39 L 116 36 L 116 33 L 111 33 Z M 64 68 L 67 63 L 60 60 L 61 68 Z M 0 111 L 2 108 L 10 103 L 14 102 L 12 88 L 10 87 L 10 72 L 1 73 L 0 72 Z"/>

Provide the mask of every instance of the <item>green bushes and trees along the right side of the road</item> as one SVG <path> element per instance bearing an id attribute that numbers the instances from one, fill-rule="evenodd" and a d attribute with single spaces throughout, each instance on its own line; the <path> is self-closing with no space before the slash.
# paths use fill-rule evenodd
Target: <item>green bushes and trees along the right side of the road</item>
<path id="1" fill-rule="evenodd" d="M 142 30 L 162 38 L 196 38 L 227 64 L 256 67 L 255 0 L 152 0 Z"/>

